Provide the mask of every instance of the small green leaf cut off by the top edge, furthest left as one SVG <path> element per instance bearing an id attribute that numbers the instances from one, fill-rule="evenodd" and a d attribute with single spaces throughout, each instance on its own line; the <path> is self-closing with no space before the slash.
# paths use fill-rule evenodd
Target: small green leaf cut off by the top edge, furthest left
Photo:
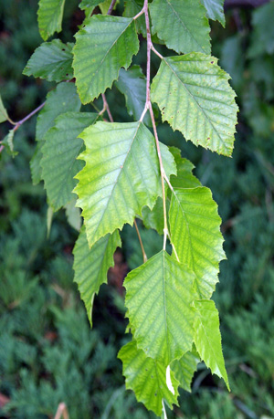
<path id="1" fill-rule="evenodd" d="M 38 26 L 44 41 L 62 30 L 64 5 L 65 0 L 39 0 Z"/>

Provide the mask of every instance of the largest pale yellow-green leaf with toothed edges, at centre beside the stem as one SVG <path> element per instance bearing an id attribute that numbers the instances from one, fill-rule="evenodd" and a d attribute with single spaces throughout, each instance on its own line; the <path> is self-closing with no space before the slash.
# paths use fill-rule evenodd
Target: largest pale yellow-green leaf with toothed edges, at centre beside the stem
<path id="1" fill-rule="evenodd" d="M 89 245 L 101 236 L 133 224 L 142 206 L 151 208 L 162 194 L 160 168 L 153 134 L 142 122 L 97 122 L 83 131 L 86 162 L 76 176 Z M 169 176 L 176 173 L 174 159 L 162 144 L 163 164 Z"/>

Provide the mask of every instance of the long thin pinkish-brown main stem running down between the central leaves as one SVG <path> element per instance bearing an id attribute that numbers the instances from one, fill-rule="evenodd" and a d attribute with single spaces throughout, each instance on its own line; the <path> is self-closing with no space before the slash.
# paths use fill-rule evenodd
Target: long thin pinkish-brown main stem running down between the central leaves
<path id="1" fill-rule="evenodd" d="M 146 100 L 144 105 L 144 110 L 142 111 L 141 121 L 147 110 L 150 110 L 151 119 L 153 122 L 153 132 L 156 141 L 156 149 L 160 165 L 160 174 L 161 174 L 161 183 L 162 183 L 162 193 L 163 193 L 163 250 L 166 246 L 166 238 L 169 236 L 168 226 L 167 226 L 167 215 L 166 215 L 166 202 L 165 202 L 165 190 L 164 190 L 164 179 L 167 178 L 163 169 L 163 160 L 160 150 L 160 142 L 157 134 L 156 123 L 153 114 L 153 105 L 151 101 L 151 50 L 155 52 L 153 47 L 151 28 L 150 28 L 150 18 L 148 13 L 148 0 L 144 0 L 143 4 L 143 13 L 145 17 L 145 26 L 146 26 L 146 37 L 147 37 L 147 66 L 146 66 Z M 159 55 L 159 54 L 158 54 Z M 161 56 L 162 57 L 162 56 Z"/>

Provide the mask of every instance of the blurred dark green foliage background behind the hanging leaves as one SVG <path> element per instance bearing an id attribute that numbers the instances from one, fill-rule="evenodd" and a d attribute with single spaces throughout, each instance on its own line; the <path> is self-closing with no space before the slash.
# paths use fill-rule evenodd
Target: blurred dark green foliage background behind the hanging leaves
<path id="1" fill-rule="evenodd" d="M 78 3 L 67 2 L 64 41 L 73 40 L 81 23 Z M 13 120 L 35 109 L 51 88 L 22 76 L 42 42 L 36 14 L 37 0 L 1 0 L 0 92 Z M 233 158 L 195 148 L 167 125 L 159 133 L 195 163 L 223 219 L 227 261 L 214 299 L 231 393 L 200 364 L 193 393 L 181 393 L 181 407 L 168 411 L 170 419 L 274 417 L 274 3 L 232 8 L 226 17 L 226 29 L 212 23 L 212 37 L 213 54 L 231 75 L 240 108 Z M 144 48 L 135 60 L 142 67 Z M 121 94 L 107 96 L 115 120 L 129 120 Z M 77 232 L 59 212 L 47 238 L 46 194 L 42 184 L 31 182 L 35 124 L 33 118 L 16 132 L 16 158 L 2 152 L 0 161 L 0 417 L 53 418 L 64 402 L 70 419 L 153 418 L 125 391 L 116 359 L 128 340 L 122 279 L 142 263 L 136 233 L 129 226 L 122 233 L 111 286 L 95 299 L 90 330 L 73 284 Z M 0 126 L 1 139 L 9 128 Z M 162 238 L 140 228 L 151 256 Z"/>

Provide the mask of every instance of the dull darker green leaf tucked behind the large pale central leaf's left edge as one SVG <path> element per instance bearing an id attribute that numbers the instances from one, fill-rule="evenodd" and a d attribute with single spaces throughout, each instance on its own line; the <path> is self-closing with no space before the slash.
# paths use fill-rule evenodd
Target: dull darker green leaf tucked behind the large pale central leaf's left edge
<path id="1" fill-rule="evenodd" d="M 42 178 L 48 202 L 55 211 L 73 197 L 72 190 L 77 184 L 74 176 L 83 167 L 83 162 L 76 160 L 83 147 L 83 141 L 77 137 L 97 118 L 98 113 L 63 113 L 47 131 L 42 148 Z"/>

